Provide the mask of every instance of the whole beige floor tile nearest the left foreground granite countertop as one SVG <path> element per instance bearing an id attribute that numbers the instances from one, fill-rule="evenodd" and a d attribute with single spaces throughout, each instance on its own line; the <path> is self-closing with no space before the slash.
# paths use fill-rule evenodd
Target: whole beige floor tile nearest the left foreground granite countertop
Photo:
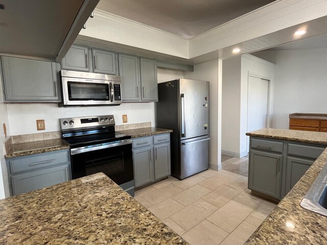
<path id="1" fill-rule="evenodd" d="M 167 199 L 165 201 L 162 201 L 161 203 L 149 207 L 148 210 L 155 216 L 157 216 L 159 219 L 163 220 L 165 218 L 168 218 L 170 215 L 178 212 L 182 208 L 184 208 L 184 206 L 179 204 L 175 200 Z"/>

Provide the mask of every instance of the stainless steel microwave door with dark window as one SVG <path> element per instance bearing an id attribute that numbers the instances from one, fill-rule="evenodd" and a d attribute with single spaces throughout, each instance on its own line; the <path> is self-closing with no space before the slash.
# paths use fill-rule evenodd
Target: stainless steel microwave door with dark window
<path id="1" fill-rule="evenodd" d="M 112 81 L 62 77 L 64 106 L 114 104 Z"/>

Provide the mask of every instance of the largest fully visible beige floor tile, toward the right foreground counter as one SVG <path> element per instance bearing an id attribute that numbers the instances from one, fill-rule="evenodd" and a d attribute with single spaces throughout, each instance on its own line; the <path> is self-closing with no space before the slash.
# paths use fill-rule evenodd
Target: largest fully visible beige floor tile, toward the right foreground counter
<path id="1" fill-rule="evenodd" d="M 253 211 L 252 208 L 230 200 L 207 219 L 221 229 L 232 232 Z"/>

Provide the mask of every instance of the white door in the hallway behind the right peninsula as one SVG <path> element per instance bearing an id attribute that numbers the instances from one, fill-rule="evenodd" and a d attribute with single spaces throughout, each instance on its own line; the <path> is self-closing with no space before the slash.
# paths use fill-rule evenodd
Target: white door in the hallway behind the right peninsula
<path id="1" fill-rule="evenodd" d="M 267 127 L 268 85 L 268 80 L 249 76 L 247 132 Z M 249 136 L 247 136 L 247 152 L 249 152 L 249 144 Z"/>

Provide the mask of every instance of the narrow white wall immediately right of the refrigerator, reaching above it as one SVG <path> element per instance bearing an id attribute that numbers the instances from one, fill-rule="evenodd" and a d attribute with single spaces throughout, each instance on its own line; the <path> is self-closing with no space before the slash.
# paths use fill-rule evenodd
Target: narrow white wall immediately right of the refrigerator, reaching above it
<path id="1" fill-rule="evenodd" d="M 194 71 L 185 71 L 185 79 L 209 81 L 209 162 L 211 168 L 221 168 L 221 60 L 212 60 L 194 66 Z"/>

